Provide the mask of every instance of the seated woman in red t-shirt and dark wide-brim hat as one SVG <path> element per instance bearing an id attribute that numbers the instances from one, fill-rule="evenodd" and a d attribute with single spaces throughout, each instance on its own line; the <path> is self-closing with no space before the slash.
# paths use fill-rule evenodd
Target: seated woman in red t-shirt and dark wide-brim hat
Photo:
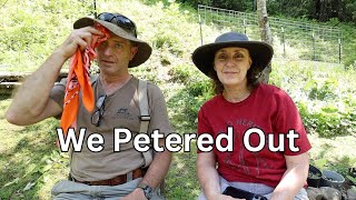
<path id="1" fill-rule="evenodd" d="M 269 44 L 249 41 L 237 32 L 224 33 L 192 53 L 196 67 L 214 80 L 216 92 L 199 111 L 198 134 L 216 138 L 228 127 L 234 130 L 233 152 L 198 150 L 199 199 L 233 199 L 222 194 L 228 186 L 268 199 L 308 199 L 304 186 L 312 147 L 298 110 L 281 89 L 258 82 L 271 57 Z M 260 131 L 253 131 L 244 142 L 247 130 Z M 298 138 L 288 139 L 289 131 Z M 257 132 L 263 132 L 267 141 L 264 146 L 259 146 L 264 140 Z M 263 149 L 255 151 L 251 147 Z"/>

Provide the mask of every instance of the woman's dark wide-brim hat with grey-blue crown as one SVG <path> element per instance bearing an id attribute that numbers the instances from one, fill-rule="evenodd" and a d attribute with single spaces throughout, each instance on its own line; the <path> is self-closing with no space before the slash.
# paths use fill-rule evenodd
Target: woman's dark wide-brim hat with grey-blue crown
<path id="1" fill-rule="evenodd" d="M 192 52 L 192 62 L 206 76 L 211 77 L 214 71 L 215 53 L 222 48 L 238 47 L 249 51 L 253 60 L 251 68 L 258 68 L 263 71 L 271 60 L 273 48 L 261 41 L 250 41 L 246 34 L 238 32 L 227 32 L 219 36 L 214 43 L 200 46 Z"/>

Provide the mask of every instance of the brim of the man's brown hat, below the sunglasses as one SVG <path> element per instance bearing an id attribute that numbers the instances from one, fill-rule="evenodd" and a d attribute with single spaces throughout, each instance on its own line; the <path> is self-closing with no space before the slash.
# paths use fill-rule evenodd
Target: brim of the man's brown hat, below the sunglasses
<path id="1" fill-rule="evenodd" d="M 119 26 L 116 26 L 113 23 L 98 20 L 98 19 L 92 19 L 92 18 L 81 18 L 73 23 L 73 28 L 80 29 L 83 27 L 91 27 L 91 26 L 93 26 L 95 22 L 100 23 L 101 26 L 103 26 L 105 28 L 110 30 L 113 34 L 137 43 L 138 51 L 137 51 L 136 56 L 134 57 L 134 59 L 129 62 L 129 68 L 140 66 L 141 63 L 146 62 L 148 60 L 148 58 L 151 56 L 152 48 L 147 42 L 135 38 L 132 34 L 127 32 L 125 29 L 122 29 Z"/>

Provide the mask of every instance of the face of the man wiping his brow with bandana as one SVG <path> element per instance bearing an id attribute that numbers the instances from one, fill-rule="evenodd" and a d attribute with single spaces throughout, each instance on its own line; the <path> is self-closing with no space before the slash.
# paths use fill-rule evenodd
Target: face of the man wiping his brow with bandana
<path id="1" fill-rule="evenodd" d="M 112 34 L 97 48 L 100 72 L 113 74 L 127 71 L 137 50 L 138 48 L 132 47 L 129 40 Z"/>

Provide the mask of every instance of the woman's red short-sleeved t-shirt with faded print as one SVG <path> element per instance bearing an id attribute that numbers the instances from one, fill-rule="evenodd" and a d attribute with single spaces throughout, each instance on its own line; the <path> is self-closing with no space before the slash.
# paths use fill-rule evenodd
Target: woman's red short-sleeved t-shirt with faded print
<path id="1" fill-rule="evenodd" d="M 218 172 L 228 181 L 276 187 L 287 169 L 284 156 L 300 154 L 312 148 L 295 103 L 285 91 L 275 86 L 261 83 L 247 99 L 237 103 L 228 102 L 219 94 L 201 107 L 198 134 L 209 133 L 215 139 L 218 133 L 226 133 L 227 127 L 234 128 L 234 151 L 219 152 L 214 148 L 214 153 Z M 244 133 L 250 128 L 259 128 L 266 138 L 267 143 L 258 152 L 250 152 L 244 146 Z M 274 147 L 277 147 L 278 136 L 287 134 L 291 129 L 299 133 L 294 144 L 299 148 L 298 152 L 290 151 L 289 139 L 286 137 L 285 151 L 273 152 L 268 149 L 268 134 L 274 136 Z M 253 133 L 249 142 L 251 147 L 257 147 L 260 138 Z M 226 144 L 227 141 L 221 140 L 221 146 Z"/>

